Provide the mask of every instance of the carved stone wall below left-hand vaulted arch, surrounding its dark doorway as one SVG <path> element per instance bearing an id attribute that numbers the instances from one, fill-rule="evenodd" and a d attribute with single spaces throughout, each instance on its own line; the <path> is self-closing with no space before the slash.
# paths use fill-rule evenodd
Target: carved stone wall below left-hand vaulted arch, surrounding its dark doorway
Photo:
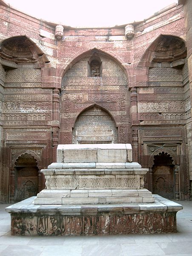
<path id="1" fill-rule="evenodd" d="M 44 187 L 40 169 L 52 162 L 51 128 L 47 126 L 52 121 L 52 89 L 40 88 L 41 69 L 23 64 L 17 69 L 3 68 L 3 70 L 3 97 L 0 104 L 1 124 L 3 124 L 1 201 L 13 202 L 18 199 L 14 195 L 15 182 L 18 181 L 20 183 L 18 186 L 21 186 L 24 177 L 24 174 L 20 175 L 20 178 L 15 175 L 15 156 L 19 157 L 26 153 L 34 155 L 33 152 L 39 150 L 35 157 L 39 159 L 39 171 L 36 177 L 31 178 L 33 184 L 26 183 L 25 191 L 29 192 L 29 188 L 34 186 L 40 191 Z"/>

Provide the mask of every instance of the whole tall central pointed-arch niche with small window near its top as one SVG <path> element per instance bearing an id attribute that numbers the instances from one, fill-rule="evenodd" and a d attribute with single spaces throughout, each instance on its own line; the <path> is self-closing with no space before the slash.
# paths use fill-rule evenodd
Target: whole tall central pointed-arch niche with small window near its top
<path id="1" fill-rule="evenodd" d="M 97 64 L 99 65 L 92 67 L 93 60 L 98 61 Z M 94 74 L 97 73 L 98 76 L 91 76 L 91 70 L 96 71 Z M 122 64 L 111 55 L 98 49 L 83 52 L 70 63 L 65 69 L 65 73 L 63 73 L 60 95 L 59 143 L 72 144 L 82 143 L 82 141 L 86 143 L 88 140 L 89 143 L 92 140 L 94 143 L 97 143 L 97 141 L 98 143 L 103 141 L 105 143 L 131 143 L 129 99 L 128 77 Z M 77 116 L 86 108 L 94 105 L 99 106 L 102 111 L 106 112 L 110 119 L 109 122 L 111 122 L 110 125 L 113 126 L 113 129 L 111 129 L 113 134 L 111 134 L 111 131 L 108 131 L 110 134 L 106 133 L 106 130 L 109 129 L 105 129 L 104 125 L 102 126 L 102 136 L 99 134 L 96 137 L 93 132 L 92 134 L 82 134 L 83 131 L 84 133 L 86 131 L 85 127 L 92 125 L 92 123 L 86 121 L 86 125 L 82 127 L 83 124 L 82 122 L 80 124 L 78 119 L 75 124 Z M 110 113 L 112 113 L 112 119 Z M 80 118 L 88 118 L 83 114 Z M 98 119 L 101 119 L 101 116 L 100 113 Z M 91 119 L 90 116 L 89 119 Z M 91 130 L 93 131 L 93 128 Z M 88 133 L 88 131 L 86 132 Z M 97 130 L 97 132 L 99 131 Z"/>

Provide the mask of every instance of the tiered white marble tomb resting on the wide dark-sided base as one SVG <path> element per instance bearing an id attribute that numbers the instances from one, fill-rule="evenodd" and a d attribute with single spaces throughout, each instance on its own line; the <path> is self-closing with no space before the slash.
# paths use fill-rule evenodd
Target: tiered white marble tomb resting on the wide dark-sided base
<path id="1" fill-rule="evenodd" d="M 34 204 L 153 203 L 144 189 L 148 169 L 132 162 L 131 144 L 58 145 L 57 163 L 41 170 L 46 189 Z"/>

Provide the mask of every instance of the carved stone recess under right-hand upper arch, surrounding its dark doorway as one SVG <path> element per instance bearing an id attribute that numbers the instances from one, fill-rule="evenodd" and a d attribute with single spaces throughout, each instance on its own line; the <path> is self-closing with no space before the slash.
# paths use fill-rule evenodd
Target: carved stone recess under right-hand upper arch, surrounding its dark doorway
<path id="1" fill-rule="evenodd" d="M 139 142 L 140 152 L 143 155 L 140 158 L 145 166 L 152 168 L 154 155 L 150 156 L 148 143 L 158 145 L 164 142 L 170 147 L 172 143 L 176 143 L 177 148 L 180 148 L 177 162 L 180 177 L 178 182 L 181 184 L 180 191 L 177 191 L 176 195 L 178 196 L 179 193 L 179 198 L 187 199 L 190 189 L 189 172 L 185 164 L 188 161 L 186 124 L 190 122 L 187 121 L 188 118 L 190 120 L 187 113 L 191 105 L 186 47 L 177 37 L 160 36 L 149 49 L 151 51 L 148 52 L 148 58 L 151 61 L 143 60 L 145 70 L 148 72 L 147 87 L 140 87 L 138 90 Z M 151 171 L 146 177 L 146 186 L 151 191 L 154 180 L 152 175 Z"/>

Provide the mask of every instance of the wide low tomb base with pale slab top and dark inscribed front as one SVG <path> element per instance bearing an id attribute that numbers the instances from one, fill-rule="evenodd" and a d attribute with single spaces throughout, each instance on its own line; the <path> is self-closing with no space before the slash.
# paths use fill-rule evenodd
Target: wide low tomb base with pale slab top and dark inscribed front
<path id="1" fill-rule="evenodd" d="M 174 233 L 183 207 L 154 195 L 155 203 L 37 205 L 31 197 L 6 208 L 14 236 Z"/>

